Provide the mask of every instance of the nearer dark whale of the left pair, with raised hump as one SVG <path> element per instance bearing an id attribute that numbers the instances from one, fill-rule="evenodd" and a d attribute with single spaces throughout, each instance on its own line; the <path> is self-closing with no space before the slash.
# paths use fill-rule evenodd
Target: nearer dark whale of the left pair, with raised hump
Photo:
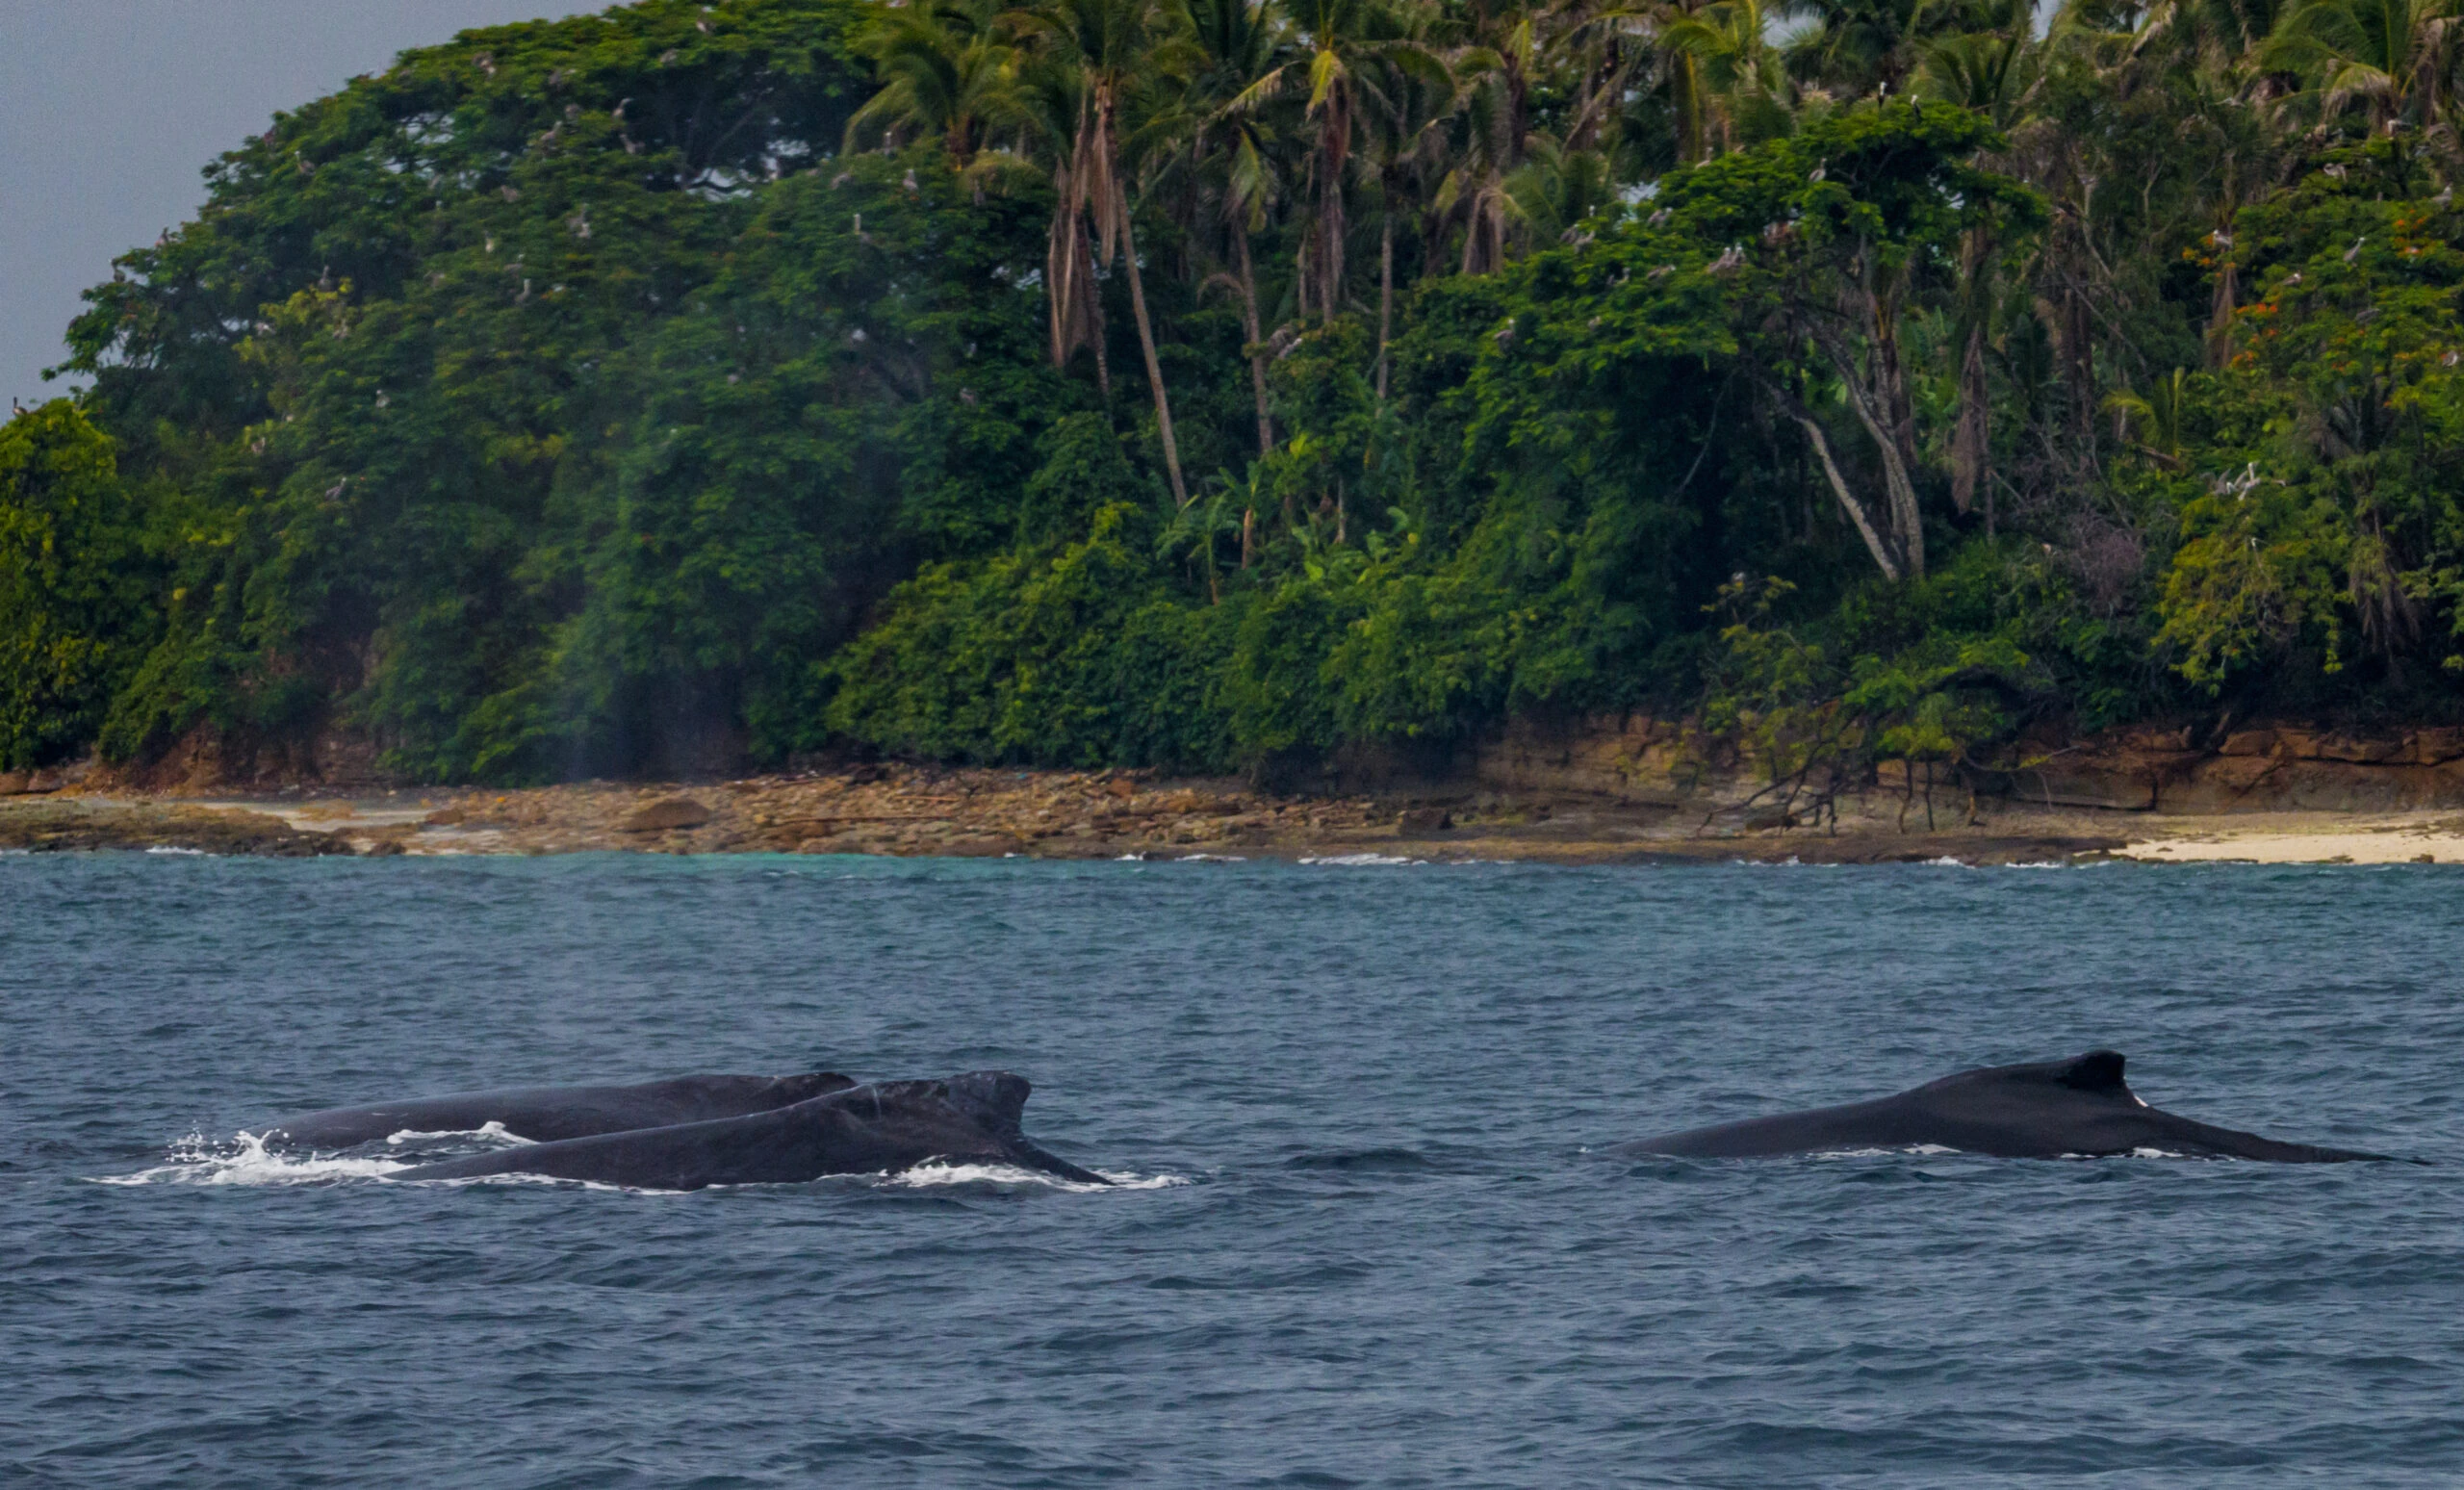
<path id="1" fill-rule="evenodd" d="M 1109 1185 L 1027 1140 L 1018 1123 L 1025 1076 L 971 1071 L 949 1081 L 875 1081 L 764 1113 L 596 1133 L 416 1165 L 389 1180 L 545 1175 L 631 1190 L 796 1185 L 823 1175 L 882 1175 L 926 1160 L 1020 1165 Z"/>

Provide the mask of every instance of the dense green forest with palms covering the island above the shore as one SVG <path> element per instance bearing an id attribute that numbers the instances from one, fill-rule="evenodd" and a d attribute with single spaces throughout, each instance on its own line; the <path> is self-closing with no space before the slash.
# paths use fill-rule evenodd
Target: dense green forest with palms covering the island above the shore
<path id="1" fill-rule="evenodd" d="M 2439 0 L 646 0 L 274 121 L 0 436 L 0 766 L 1774 773 L 2454 712 Z"/>

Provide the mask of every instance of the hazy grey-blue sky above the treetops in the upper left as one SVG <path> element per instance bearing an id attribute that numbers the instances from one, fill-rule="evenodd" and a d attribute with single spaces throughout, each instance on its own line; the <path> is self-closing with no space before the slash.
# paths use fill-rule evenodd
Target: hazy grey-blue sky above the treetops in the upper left
<path id="1" fill-rule="evenodd" d="M 205 202 L 276 108 L 476 25 L 606 0 L 0 0 L 0 394 L 62 382 L 76 293 Z"/>

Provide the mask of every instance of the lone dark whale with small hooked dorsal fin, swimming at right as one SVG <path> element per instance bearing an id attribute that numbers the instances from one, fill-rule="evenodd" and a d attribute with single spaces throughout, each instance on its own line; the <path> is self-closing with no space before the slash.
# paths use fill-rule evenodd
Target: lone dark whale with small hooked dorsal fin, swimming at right
<path id="1" fill-rule="evenodd" d="M 1661 1133 L 1611 1155 L 1747 1160 L 1836 1148 L 1942 1145 L 2008 1160 L 2097 1158 L 2161 1150 L 2188 1158 L 2324 1165 L 2380 1160 L 2346 1148 L 2279 1143 L 2161 1113 L 2122 1081 L 2122 1057 L 2092 1049 L 2067 1061 L 1984 1066 L 1915 1091 L 1836 1108 Z"/>

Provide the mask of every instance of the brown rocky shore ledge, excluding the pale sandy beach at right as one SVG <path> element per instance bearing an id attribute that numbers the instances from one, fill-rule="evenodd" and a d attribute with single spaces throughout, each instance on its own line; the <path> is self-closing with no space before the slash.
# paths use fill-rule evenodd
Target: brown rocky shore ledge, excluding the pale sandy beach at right
<path id="1" fill-rule="evenodd" d="M 1897 795 L 1836 832 L 1708 825 L 1703 813 L 1562 793 L 1429 803 L 1264 793 L 1141 771 L 860 766 L 692 786 L 530 791 L 286 788 L 168 798 L 64 786 L 0 798 L 0 850 L 219 855 L 769 852 L 899 857 L 1404 857 L 1560 864 L 1653 860 L 2062 862 L 2126 840 L 2094 815 L 2018 810 L 1902 832 Z"/>

